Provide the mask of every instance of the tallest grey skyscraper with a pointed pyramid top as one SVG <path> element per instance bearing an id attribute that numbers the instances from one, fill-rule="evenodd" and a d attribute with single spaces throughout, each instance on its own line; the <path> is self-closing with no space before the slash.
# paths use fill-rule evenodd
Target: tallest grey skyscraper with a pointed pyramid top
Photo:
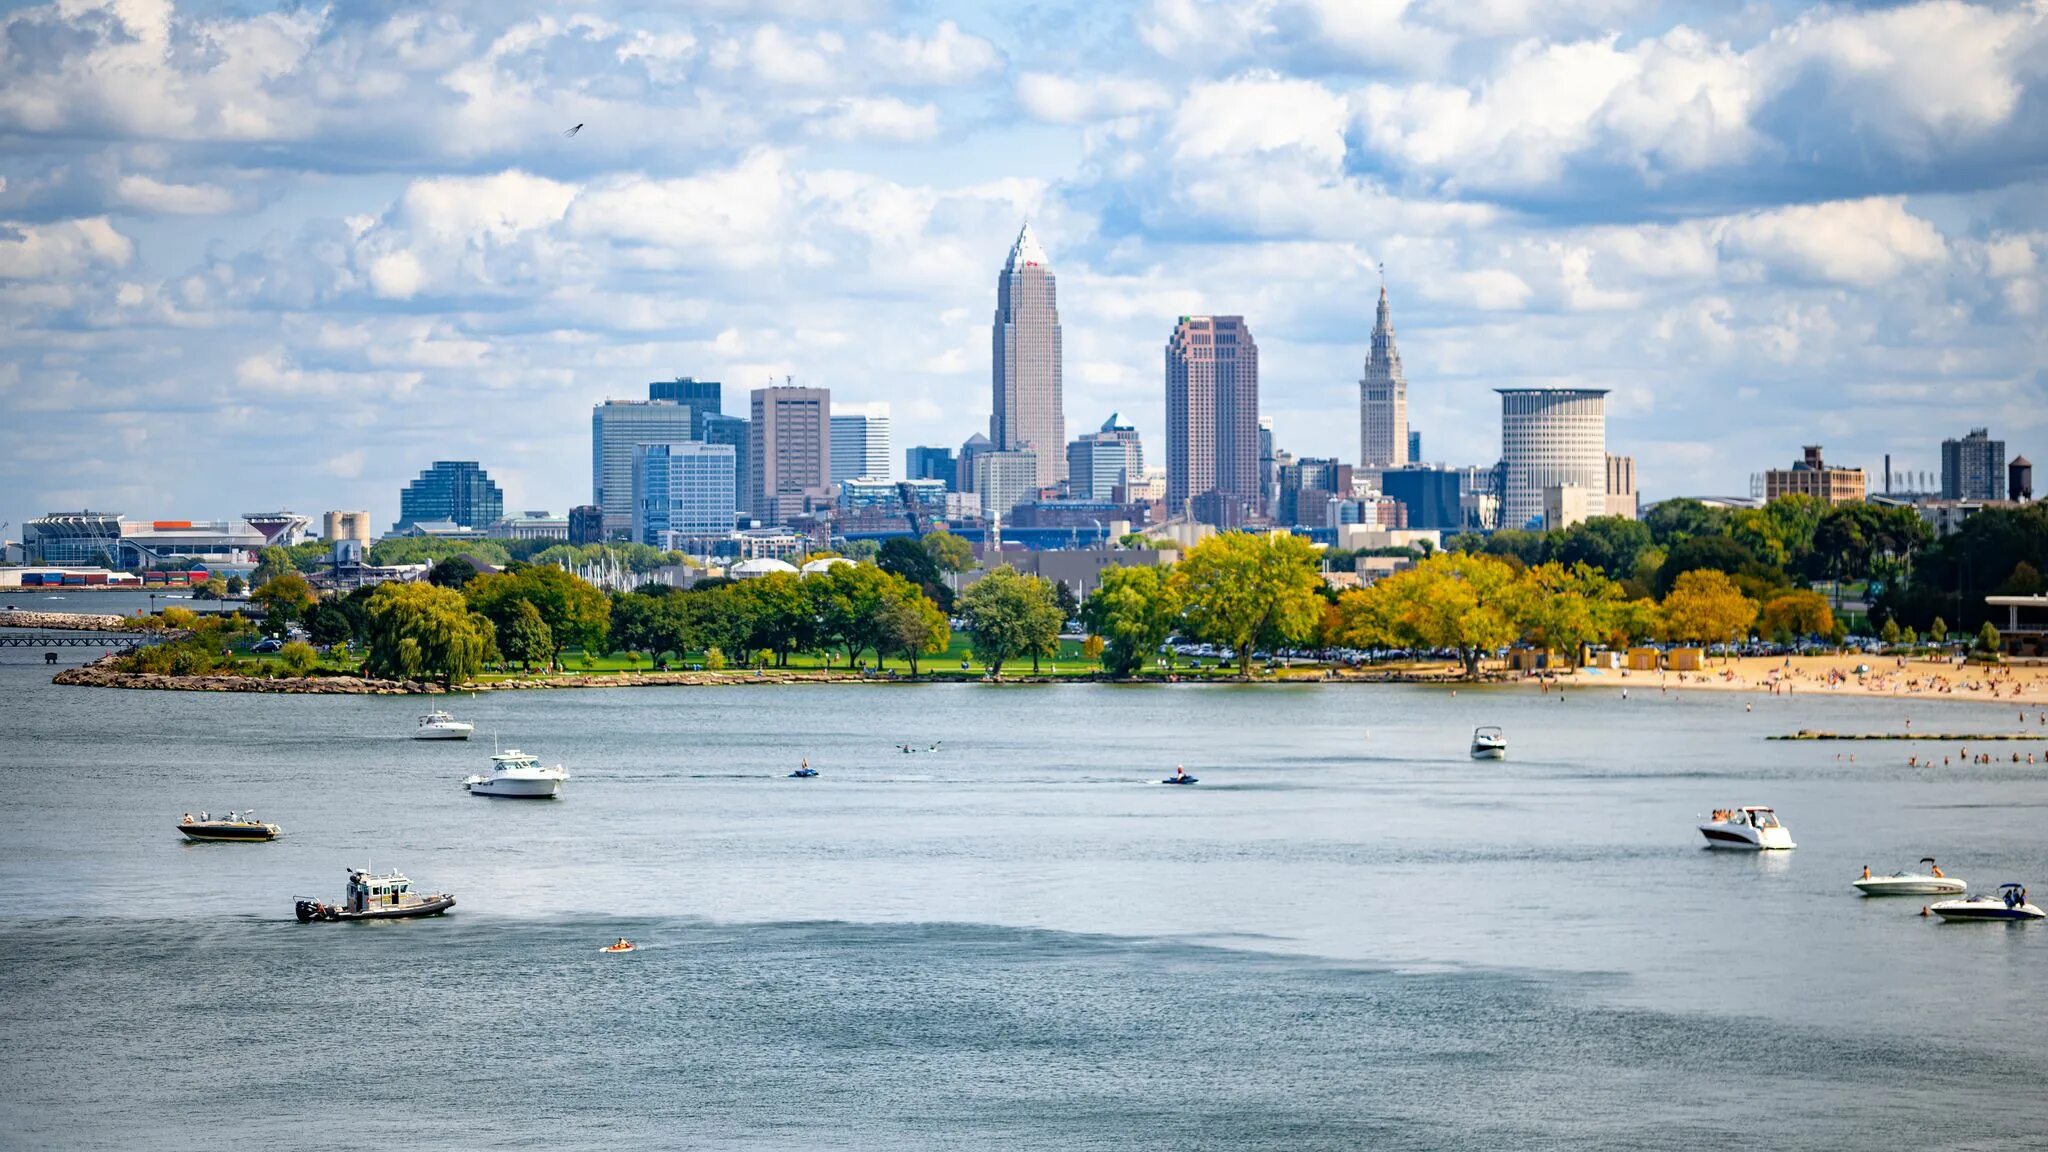
<path id="1" fill-rule="evenodd" d="M 997 451 L 1032 451 L 1038 486 L 1067 478 L 1067 414 L 1061 400 L 1059 291 L 1030 223 L 1010 246 L 995 277 L 995 412 L 989 439 Z"/>

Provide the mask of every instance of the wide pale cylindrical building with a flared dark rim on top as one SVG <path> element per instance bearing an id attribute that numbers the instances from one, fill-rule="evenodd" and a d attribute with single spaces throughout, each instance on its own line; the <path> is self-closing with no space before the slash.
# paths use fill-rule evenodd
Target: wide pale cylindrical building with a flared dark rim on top
<path id="1" fill-rule="evenodd" d="M 1575 484 L 1587 515 L 1608 508 L 1608 389 L 1497 387 L 1501 394 L 1501 527 L 1542 525 L 1544 490 Z"/>

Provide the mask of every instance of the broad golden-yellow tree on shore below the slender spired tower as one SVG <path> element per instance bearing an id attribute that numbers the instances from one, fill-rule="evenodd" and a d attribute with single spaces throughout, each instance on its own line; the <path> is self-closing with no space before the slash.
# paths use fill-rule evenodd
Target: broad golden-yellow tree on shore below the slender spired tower
<path id="1" fill-rule="evenodd" d="M 1450 648 L 1477 676 L 1479 660 L 1520 633 L 1520 596 L 1509 562 L 1440 551 L 1337 596 L 1339 637 L 1352 648 Z"/>

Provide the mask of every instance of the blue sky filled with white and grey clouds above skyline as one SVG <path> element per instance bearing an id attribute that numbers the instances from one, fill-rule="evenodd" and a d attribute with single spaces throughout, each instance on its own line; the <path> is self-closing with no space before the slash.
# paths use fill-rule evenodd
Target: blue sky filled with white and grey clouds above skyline
<path id="1" fill-rule="evenodd" d="M 676 375 L 901 467 L 987 430 L 1026 219 L 1069 437 L 1153 461 L 1182 314 L 1356 459 L 1380 264 L 1432 461 L 1509 385 L 1612 389 L 1647 498 L 2048 461 L 2048 0 L 59 0 L 0 4 L 0 521 L 559 515 Z"/>

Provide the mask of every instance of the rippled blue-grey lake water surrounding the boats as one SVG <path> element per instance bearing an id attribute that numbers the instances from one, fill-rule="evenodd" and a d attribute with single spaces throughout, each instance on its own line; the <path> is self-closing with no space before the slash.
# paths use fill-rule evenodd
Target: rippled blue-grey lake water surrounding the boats
<path id="1" fill-rule="evenodd" d="M 631 689 L 457 697 L 479 740 L 420 744 L 410 699 L 47 676 L 0 662 L 0 1146 L 2048 1144 L 2048 924 L 1849 888 L 2048 892 L 2048 767 L 1765 742 L 2007 707 Z M 563 799 L 463 793 L 494 736 Z M 1731 804 L 1798 851 L 1702 851 Z M 287 836 L 172 830 L 250 806 Z M 350 863 L 461 904 L 297 924 Z"/>

